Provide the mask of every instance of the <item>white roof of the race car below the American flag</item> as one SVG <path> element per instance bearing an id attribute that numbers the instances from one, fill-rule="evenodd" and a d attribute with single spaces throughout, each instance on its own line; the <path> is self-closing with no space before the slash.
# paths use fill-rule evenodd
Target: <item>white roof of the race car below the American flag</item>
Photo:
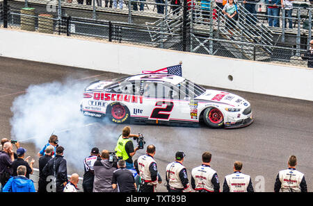
<path id="1" fill-rule="evenodd" d="M 137 74 L 135 76 L 129 76 L 127 80 L 151 80 L 151 81 L 163 81 L 177 85 L 185 80 L 182 76 L 176 76 L 173 74 Z"/>

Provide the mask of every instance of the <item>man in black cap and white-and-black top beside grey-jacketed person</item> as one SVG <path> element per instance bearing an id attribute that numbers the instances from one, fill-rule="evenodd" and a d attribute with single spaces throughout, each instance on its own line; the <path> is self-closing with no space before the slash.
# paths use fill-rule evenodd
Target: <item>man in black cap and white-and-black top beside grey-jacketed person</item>
<path id="1" fill-rule="evenodd" d="M 99 160 L 99 148 L 94 147 L 90 152 L 90 156 L 83 161 L 85 171 L 83 173 L 83 192 L 93 192 L 93 181 L 95 178 L 93 166 L 97 160 Z"/>

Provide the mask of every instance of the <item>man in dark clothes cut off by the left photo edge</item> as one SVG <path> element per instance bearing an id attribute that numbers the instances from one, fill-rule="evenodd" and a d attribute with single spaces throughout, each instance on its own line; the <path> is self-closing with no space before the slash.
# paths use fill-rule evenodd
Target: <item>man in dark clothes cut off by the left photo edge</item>
<path id="1" fill-rule="evenodd" d="M 7 141 L 3 144 L 3 151 L 0 152 L 0 183 L 1 190 L 3 185 L 8 182 L 13 173 L 12 164 L 14 161 L 14 151 L 12 144 Z"/>

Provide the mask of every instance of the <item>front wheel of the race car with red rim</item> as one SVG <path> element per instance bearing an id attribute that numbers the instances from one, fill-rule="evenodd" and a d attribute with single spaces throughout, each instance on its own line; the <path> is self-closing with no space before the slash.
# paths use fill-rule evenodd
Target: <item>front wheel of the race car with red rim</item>
<path id="1" fill-rule="evenodd" d="M 203 121 L 211 128 L 221 128 L 224 126 L 224 116 L 217 108 L 207 108 L 203 112 Z"/>

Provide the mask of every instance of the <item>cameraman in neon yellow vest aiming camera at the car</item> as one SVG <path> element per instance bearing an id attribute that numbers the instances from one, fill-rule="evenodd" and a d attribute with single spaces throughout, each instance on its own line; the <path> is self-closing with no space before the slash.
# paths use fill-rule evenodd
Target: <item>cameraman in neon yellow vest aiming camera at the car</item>
<path id="1" fill-rule="evenodd" d="M 130 133 L 130 127 L 126 126 L 122 130 L 122 135 L 118 137 L 118 142 L 115 147 L 116 155 L 118 156 L 119 160 L 125 160 L 126 162 L 126 168 L 127 169 L 133 169 L 134 164 L 132 157 L 136 154 L 136 151 L 138 151 L 138 147 L 134 148 L 133 141 L 131 141 L 131 137 L 138 138 L 139 135 L 132 135 Z"/>

